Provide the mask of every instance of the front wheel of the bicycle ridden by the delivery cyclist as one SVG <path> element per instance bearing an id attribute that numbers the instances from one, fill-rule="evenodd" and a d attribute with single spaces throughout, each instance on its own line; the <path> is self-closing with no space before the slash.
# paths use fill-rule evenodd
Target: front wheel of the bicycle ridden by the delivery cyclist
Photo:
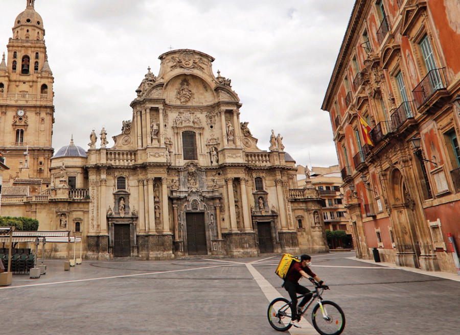
<path id="1" fill-rule="evenodd" d="M 319 303 L 313 308 L 311 321 L 321 335 L 339 335 L 345 328 L 345 315 L 335 302 L 323 301 L 323 310 Z"/>

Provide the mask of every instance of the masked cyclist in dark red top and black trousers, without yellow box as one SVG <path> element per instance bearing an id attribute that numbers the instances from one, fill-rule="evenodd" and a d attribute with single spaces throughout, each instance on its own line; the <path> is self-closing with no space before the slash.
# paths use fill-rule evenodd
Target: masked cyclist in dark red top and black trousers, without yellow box
<path id="1" fill-rule="evenodd" d="M 316 276 L 313 271 L 310 269 L 311 267 L 311 256 L 309 255 L 302 255 L 300 262 L 295 262 L 292 267 L 289 269 L 289 272 L 286 274 L 286 278 L 284 281 L 284 289 L 289 293 L 289 297 L 291 298 L 291 306 L 292 306 L 292 317 L 291 317 L 291 324 L 294 327 L 302 328 L 298 321 L 298 313 L 302 311 L 305 307 L 305 304 L 311 299 L 313 293 L 310 292 L 305 286 L 302 286 L 298 283 L 299 279 L 305 277 L 309 279 L 313 277 L 320 285 L 323 284 L 323 281 L 320 281 L 318 276 Z M 313 282 L 313 281 L 312 281 Z M 300 304 L 297 306 L 297 293 L 298 294 L 307 294 Z"/>

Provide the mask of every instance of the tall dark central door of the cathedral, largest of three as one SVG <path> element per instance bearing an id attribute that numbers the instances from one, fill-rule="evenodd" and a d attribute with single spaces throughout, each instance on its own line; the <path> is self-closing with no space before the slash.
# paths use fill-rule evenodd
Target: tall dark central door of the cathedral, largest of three
<path id="1" fill-rule="evenodd" d="M 206 255 L 206 230 L 204 228 L 204 213 L 187 213 L 187 251 L 189 255 Z"/>

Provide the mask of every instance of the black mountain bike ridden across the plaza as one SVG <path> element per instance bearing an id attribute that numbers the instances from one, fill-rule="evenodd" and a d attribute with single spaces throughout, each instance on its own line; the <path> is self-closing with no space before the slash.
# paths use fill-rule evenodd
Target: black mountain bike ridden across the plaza
<path id="1" fill-rule="evenodd" d="M 310 301 L 305 305 L 302 312 L 298 313 L 298 320 L 305 314 L 308 307 L 318 299 L 318 303 L 313 307 L 311 313 L 311 322 L 316 331 L 321 335 L 339 335 L 342 333 L 343 328 L 345 328 L 345 315 L 343 314 L 342 309 L 333 301 L 323 300 L 321 295 L 324 290 L 329 290 L 329 286 L 321 285 L 318 282 L 312 282 L 315 285 L 315 291 L 312 291 L 313 296 Z M 306 295 L 298 296 L 297 299 L 301 299 Z M 268 305 L 268 322 L 270 325 L 279 331 L 286 331 L 292 327 L 290 324 L 292 316 L 292 308 L 297 308 L 297 306 L 291 307 L 291 302 L 285 298 L 274 299 Z"/>

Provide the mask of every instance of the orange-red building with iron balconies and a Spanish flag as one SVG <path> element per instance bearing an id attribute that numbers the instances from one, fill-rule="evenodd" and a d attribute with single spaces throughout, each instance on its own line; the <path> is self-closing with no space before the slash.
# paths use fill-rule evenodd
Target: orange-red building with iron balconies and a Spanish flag
<path id="1" fill-rule="evenodd" d="M 460 7 L 358 0 L 322 108 L 359 257 L 455 273 Z"/>

